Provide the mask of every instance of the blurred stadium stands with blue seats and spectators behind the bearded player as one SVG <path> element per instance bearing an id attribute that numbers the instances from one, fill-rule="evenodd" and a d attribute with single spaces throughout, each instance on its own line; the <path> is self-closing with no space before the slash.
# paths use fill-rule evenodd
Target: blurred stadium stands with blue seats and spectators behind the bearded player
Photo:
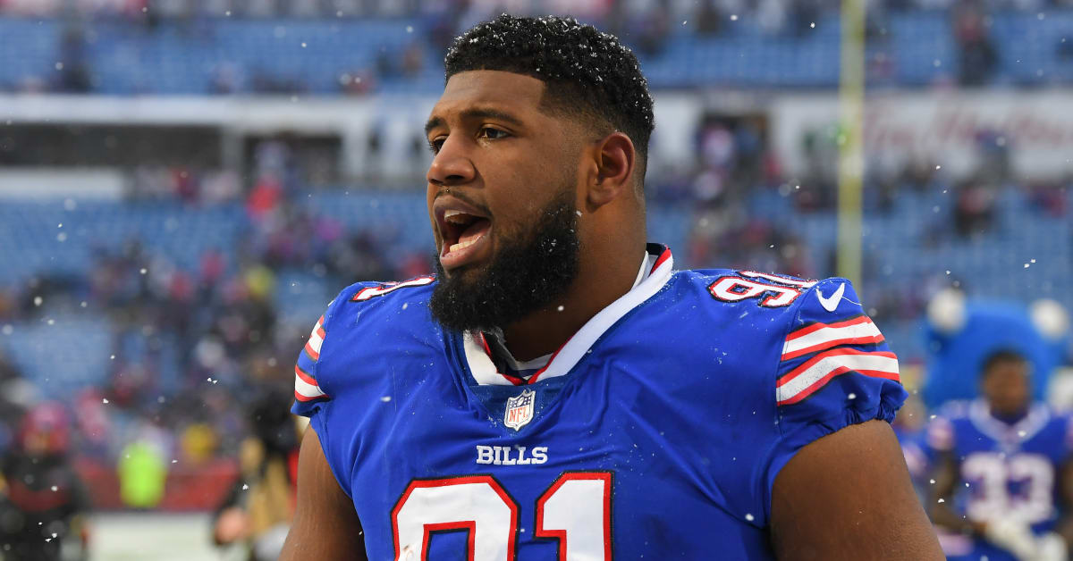
<path id="1" fill-rule="evenodd" d="M 429 269 L 421 126 L 450 40 L 504 10 L 635 49 L 649 237 L 681 267 L 836 274 L 863 141 L 850 271 L 911 387 L 944 287 L 1073 307 L 1073 2 L 866 4 L 850 50 L 831 0 L 0 0 L 0 451 L 58 401 L 93 559 L 241 558 L 204 513 L 247 411 L 337 291 Z M 166 486 L 132 511 L 139 443 Z"/>

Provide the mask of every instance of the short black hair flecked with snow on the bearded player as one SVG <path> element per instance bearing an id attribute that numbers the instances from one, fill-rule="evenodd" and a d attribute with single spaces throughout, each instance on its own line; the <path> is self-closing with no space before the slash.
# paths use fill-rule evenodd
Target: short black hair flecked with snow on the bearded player
<path id="1" fill-rule="evenodd" d="M 637 57 L 615 35 L 572 17 L 502 14 L 455 39 L 445 79 L 471 70 L 499 70 L 543 80 L 542 105 L 587 118 L 605 132 L 621 131 L 637 150 L 640 177 L 656 119 Z"/>

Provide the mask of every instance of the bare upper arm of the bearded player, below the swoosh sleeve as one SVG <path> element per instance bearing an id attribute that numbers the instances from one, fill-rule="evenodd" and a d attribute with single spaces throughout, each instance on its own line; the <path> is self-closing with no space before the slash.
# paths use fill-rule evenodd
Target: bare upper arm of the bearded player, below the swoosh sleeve
<path id="1" fill-rule="evenodd" d="M 848 426 L 798 451 L 775 479 L 781 560 L 941 560 L 891 426 Z"/>

